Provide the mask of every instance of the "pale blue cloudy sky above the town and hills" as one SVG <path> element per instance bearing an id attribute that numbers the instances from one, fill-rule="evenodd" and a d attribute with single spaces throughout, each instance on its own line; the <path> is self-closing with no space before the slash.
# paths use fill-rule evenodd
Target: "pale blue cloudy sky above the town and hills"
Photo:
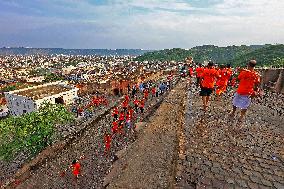
<path id="1" fill-rule="evenodd" d="M 284 43 L 284 0 L 0 0 L 0 47 Z"/>

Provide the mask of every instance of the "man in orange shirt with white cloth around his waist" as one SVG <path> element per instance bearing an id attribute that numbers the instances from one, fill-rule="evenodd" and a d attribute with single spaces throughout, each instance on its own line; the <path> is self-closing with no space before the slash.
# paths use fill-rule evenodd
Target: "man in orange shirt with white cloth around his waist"
<path id="1" fill-rule="evenodd" d="M 233 118 L 237 108 L 240 108 L 241 116 L 238 120 L 239 123 L 242 123 L 245 117 L 251 103 L 251 97 L 257 95 L 256 91 L 258 91 L 258 85 L 260 84 L 260 75 L 254 70 L 255 65 L 256 61 L 250 60 L 248 69 L 242 69 L 238 76 L 240 83 L 233 99 L 233 111 L 230 114 L 230 118 Z"/>

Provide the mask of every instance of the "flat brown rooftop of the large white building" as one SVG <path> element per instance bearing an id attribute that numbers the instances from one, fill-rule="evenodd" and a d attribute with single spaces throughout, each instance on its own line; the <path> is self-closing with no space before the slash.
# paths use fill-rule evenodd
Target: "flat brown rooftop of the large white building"
<path id="1" fill-rule="evenodd" d="M 15 92 L 14 94 L 32 98 L 33 100 L 42 99 L 62 92 L 69 91 L 70 88 L 55 84 L 40 86 L 37 88 L 27 88 L 26 90 Z"/>

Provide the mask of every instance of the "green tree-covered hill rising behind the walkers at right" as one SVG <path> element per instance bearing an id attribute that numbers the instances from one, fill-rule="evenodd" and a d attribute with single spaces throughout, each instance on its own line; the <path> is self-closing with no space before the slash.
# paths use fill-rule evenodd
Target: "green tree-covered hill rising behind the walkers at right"
<path id="1" fill-rule="evenodd" d="M 241 45 L 218 47 L 203 45 L 185 50 L 180 48 L 148 52 L 135 60 L 138 61 L 184 61 L 192 56 L 195 62 L 212 60 L 218 64 L 243 66 L 250 59 L 256 59 L 258 66 L 284 66 L 284 45 Z"/>

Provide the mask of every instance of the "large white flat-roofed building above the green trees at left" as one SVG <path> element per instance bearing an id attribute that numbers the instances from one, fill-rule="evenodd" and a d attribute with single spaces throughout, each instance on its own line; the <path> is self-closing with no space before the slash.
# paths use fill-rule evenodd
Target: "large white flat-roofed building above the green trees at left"
<path id="1" fill-rule="evenodd" d="M 53 82 L 5 92 L 5 98 L 10 114 L 18 116 L 37 110 L 43 102 L 71 104 L 78 90 L 65 83 Z"/>

